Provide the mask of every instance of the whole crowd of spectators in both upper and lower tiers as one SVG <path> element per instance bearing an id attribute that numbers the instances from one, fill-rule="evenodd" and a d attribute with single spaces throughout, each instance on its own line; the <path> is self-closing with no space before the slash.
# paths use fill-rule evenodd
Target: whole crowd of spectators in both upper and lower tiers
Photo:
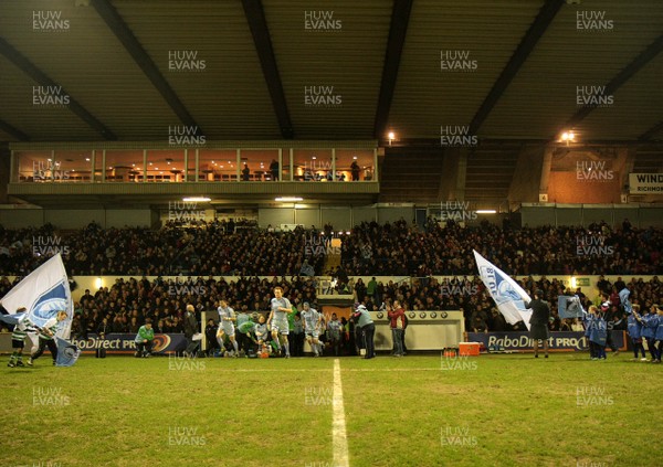
<path id="1" fill-rule="evenodd" d="M 187 303 L 193 303 L 198 309 L 213 309 L 214 303 L 225 297 L 238 309 L 265 311 L 270 289 L 276 284 L 287 287 L 286 296 L 293 303 L 312 301 L 316 289 L 309 277 L 323 274 L 333 230 L 327 224 L 322 231 L 297 227 L 275 232 L 260 230 L 251 221 L 194 225 L 169 222 L 159 230 L 104 230 L 92 223 L 66 233 L 50 224 L 13 231 L 0 227 L 0 274 L 20 278 L 60 252 L 71 276 L 209 276 L 175 284 L 160 278 L 119 280 L 107 290 L 96 291 L 93 299 L 85 296 L 81 301 L 78 316 L 86 331 L 95 329 L 107 314 L 112 327 L 122 326 L 129 332 L 146 317 L 155 319 L 157 329 L 164 326 L 172 330 L 180 326 L 179 314 Z M 467 329 L 509 330 L 481 280 L 476 276 L 469 278 L 476 272 L 472 250 L 511 275 L 653 275 L 663 267 L 662 232 L 633 229 L 628 221 L 617 230 L 604 223 L 589 229 L 512 229 L 487 223 L 461 227 L 454 222 L 440 224 L 429 219 L 424 230 L 404 220 L 381 225 L 361 223 L 343 237 L 341 267 L 334 275 L 339 279 L 337 288 L 354 293 L 368 309 L 379 309 L 383 303 L 400 298 L 410 310 L 462 309 Z M 587 254 L 593 247 L 602 248 L 597 252 L 600 254 Z M 239 278 L 231 284 L 212 278 L 222 275 Z M 293 277 L 290 283 L 255 277 L 286 275 Z M 361 275 L 414 279 L 364 284 L 350 278 Z M 432 275 L 460 278 L 439 283 Z M 526 290 L 535 286 L 543 289 L 554 310 L 557 296 L 569 293 L 560 282 L 545 276 L 536 284 L 530 278 L 523 285 Z M 0 296 L 10 287 L 9 280 L 0 280 Z M 614 297 L 610 287 L 599 285 Z M 629 288 L 633 303 L 640 303 L 644 309 L 663 298 L 657 278 L 634 280 Z M 136 322 L 131 318 L 137 318 Z M 555 318 L 554 326 L 565 325 L 558 321 Z"/>

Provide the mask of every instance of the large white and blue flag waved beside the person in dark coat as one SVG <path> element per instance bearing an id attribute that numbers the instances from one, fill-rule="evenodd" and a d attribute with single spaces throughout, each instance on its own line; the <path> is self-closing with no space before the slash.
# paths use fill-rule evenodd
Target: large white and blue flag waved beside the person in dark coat
<path id="1" fill-rule="evenodd" d="M 532 301 L 529 295 L 502 269 L 476 253 L 475 250 L 473 252 L 481 280 L 488 289 L 506 322 L 515 325 L 518 321 L 525 321 L 525 326 L 529 329 L 532 310 L 525 308 L 525 301 Z"/>

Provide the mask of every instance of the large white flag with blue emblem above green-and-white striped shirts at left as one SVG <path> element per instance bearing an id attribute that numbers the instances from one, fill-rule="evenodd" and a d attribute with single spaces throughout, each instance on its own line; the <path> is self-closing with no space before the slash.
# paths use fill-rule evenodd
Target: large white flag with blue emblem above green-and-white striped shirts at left
<path id="1" fill-rule="evenodd" d="M 57 311 L 66 311 L 66 319 L 60 322 L 55 336 L 69 339 L 74 304 L 60 253 L 25 276 L 0 304 L 10 315 L 25 307 L 25 318 L 36 327 L 44 326 Z"/>

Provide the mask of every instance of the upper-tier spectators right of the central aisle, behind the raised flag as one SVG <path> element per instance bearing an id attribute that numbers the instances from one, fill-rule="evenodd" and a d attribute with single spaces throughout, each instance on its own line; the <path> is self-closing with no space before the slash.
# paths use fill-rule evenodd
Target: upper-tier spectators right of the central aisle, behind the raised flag
<path id="1" fill-rule="evenodd" d="M 425 230 L 404 220 L 364 222 L 343 243 L 343 265 L 352 275 L 466 275 L 476 266 L 472 250 L 512 275 L 661 274 L 663 231 L 619 230 L 606 223 L 583 227 L 503 229 L 483 223 L 461 227 L 432 220 Z"/>

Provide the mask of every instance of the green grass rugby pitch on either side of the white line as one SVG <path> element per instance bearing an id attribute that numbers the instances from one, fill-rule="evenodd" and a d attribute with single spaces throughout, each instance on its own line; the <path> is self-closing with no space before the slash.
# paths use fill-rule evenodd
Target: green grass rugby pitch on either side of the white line
<path id="1" fill-rule="evenodd" d="M 663 367 L 630 359 L 341 358 L 349 465 L 661 465 Z M 335 465 L 333 358 L 0 361 L 2 466 Z"/>

